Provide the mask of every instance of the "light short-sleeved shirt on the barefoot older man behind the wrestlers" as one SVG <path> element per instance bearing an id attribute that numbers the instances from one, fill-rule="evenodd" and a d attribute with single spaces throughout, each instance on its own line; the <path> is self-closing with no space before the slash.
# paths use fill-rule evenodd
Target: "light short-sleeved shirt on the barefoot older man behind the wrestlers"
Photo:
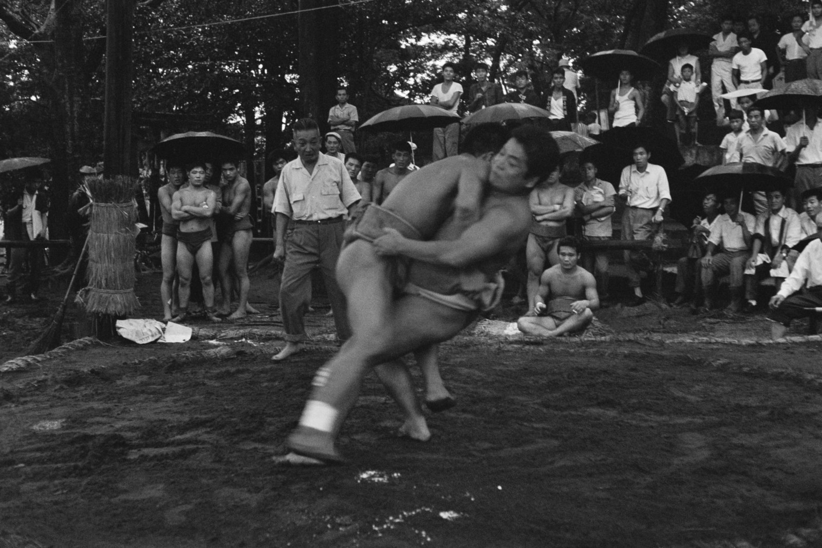
<path id="1" fill-rule="evenodd" d="M 334 219 L 360 199 L 349 172 L 336 158 L 320 153 L 312 173 L 302 159 L 285 164 L 274 195 L 274 211 L 300 221 Z"/>

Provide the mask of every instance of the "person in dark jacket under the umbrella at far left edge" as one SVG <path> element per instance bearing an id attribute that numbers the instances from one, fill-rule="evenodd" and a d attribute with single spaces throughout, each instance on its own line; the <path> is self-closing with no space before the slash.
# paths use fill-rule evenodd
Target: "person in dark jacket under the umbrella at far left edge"
<path id="1" fill-rule="evenodd" d="M 6 212 L 6 237 L 10 240 L 32 242 L 44 240 L 48 228 L 48 198 L 39 192 L 43 177 L 32 177 L 25 182 L 25 187 L 14 207 Z M 22 287 L 23 263 L 29 263 L 28 292 L 32 301 L 39 301 L 37 290 L 40 285 L 40 266 L 43 262 L 43 248 L 15 247 L 8 266 L 8 283 L 6 284 L 6 303 L 16 299 L 18 289 Z"/>

